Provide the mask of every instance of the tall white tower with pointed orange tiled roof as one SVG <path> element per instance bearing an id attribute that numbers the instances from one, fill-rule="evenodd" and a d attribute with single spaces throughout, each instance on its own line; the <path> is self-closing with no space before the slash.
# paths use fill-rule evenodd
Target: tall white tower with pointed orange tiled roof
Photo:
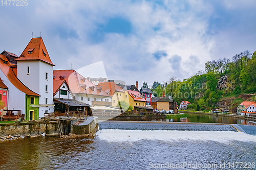
<path id="1" fill-rule="evenodd" d="M 32 38 L 17 59 L 17 76 L 28 88 L 40 95 L 39 117 L 54 112 L 53 66 L 42 38 Z"/>

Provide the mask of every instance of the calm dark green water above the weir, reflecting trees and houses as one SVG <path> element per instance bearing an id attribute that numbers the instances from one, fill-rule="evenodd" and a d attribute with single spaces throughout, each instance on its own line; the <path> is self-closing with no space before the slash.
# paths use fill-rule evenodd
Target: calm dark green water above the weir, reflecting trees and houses
<path id="1" fill-rule="evenodd" d="M 209 114 L 186 113 L 188 117 L 166 119 L 165 116 L 118 116 L 110 120 L 125 120 L 125 121 L 147 121 L 147 122 L 191 122 L 191 123 L 219 123 L 219 124 L 241 124 L 255 125 L 247 120 L 216 116 Z"/>

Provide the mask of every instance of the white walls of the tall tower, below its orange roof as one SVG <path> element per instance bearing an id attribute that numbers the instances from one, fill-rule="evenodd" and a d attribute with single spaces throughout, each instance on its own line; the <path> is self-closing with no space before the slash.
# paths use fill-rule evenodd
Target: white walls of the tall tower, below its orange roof
<path id="1" fill-rule="evenodd" d="M 53 66 L 40 60 L 18 60 L 17 74 L 18 79 L 23 84 L 40 95 L 39 117 L 44 117 L 44 113 L 46 112 L 54 112 Z"/>

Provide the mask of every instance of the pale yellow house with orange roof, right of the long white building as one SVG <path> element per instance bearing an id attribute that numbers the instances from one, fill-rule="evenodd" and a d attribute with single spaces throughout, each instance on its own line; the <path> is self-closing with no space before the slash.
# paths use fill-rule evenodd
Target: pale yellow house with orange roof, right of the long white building
<path id="1" fill-rule="evenodd" d="M 114 82 L 104 82 L 97 85 L 111 96 L 111 105 L 116 107 L 118 102 L 124 101 L 124 91 Z"/>

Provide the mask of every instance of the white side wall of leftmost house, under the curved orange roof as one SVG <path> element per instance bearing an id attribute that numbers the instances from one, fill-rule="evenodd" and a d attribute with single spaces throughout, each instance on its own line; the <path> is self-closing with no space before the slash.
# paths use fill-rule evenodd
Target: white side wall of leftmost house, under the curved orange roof
<path id="1" fill-rule="evenodd" d="M 9 110 L 21 110 L 21 114 L 26 115 L 26 93 L 17 89 L 12 82 L 5 76 L 4 72 L 0 69 L 0 77 L 3 83 L 8 87 L 7 107 Z M 9 102 L 10 101 L 10 102 Z M 13 112 L 17 115 L 17 112 Z"/>

